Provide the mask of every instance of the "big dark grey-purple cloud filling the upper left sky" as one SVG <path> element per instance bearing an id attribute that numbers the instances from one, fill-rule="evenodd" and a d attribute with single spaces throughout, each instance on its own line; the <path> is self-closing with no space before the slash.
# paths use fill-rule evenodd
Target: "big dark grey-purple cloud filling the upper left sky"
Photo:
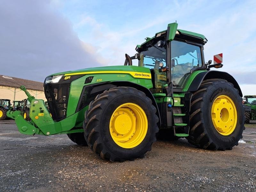
<path id="1" fill-rule="evenodd" d="M 44 81 L 52 73 L 101 65 L 103 59 L 91 51 L 95 48 L 81 42 L 56 11 L 57 1 L 26 2 L 1 2 L 2 74 Z"/>

